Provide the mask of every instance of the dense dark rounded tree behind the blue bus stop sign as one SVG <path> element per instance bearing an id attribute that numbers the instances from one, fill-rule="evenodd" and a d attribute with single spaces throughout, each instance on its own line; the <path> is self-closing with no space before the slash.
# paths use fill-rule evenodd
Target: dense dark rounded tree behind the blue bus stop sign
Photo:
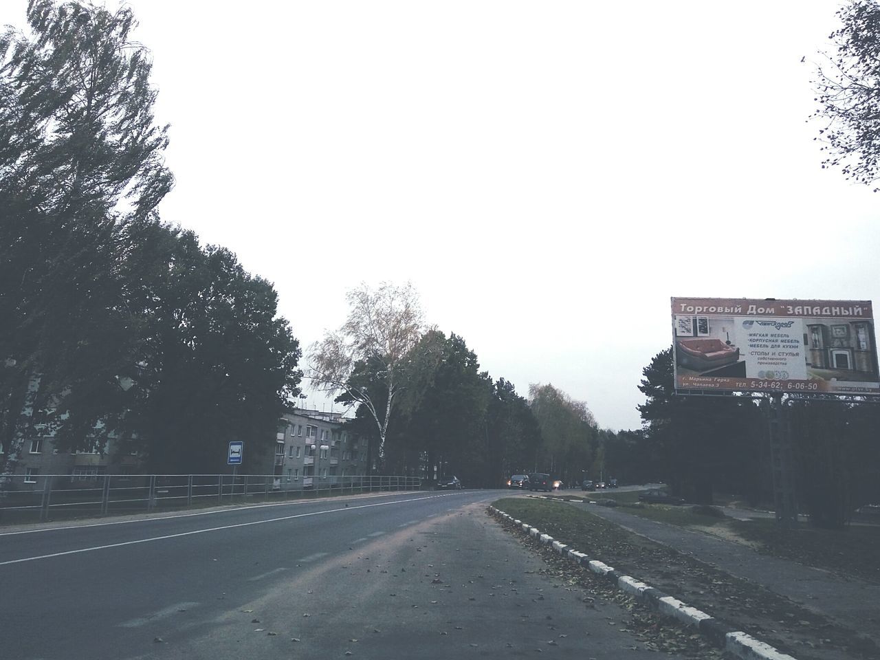
<path id="1" fill-rule="evenodd" d="M 271 283 L 189 231 L 156 224 L 141 245 L 128 301 L 143 334 L 120 424 L 133 448 L 153 472 L 219 470 L 231 440 L 246 441 L 246 463 L 270 451 L 301 378 Z"/>

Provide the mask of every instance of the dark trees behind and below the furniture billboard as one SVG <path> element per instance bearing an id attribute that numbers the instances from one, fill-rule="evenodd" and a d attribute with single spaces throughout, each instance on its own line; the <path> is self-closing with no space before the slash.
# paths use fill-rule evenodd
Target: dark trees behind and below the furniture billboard
<path id="1" fill-rule="evenodd" d="M 672 360 L 668 348 L 642 370 L 644 427 L 623 436 L 631 436 L 655 473 L 693 502 L 712 503 L 714 492 L 741 495 L 752 504 L 773 502 L 769 401 L 677 396 Z M 835 397 L 784 405 L 796 493 L 810 521 L 840 527 L 855 508 L 880 502 L 880 406 Z"/>

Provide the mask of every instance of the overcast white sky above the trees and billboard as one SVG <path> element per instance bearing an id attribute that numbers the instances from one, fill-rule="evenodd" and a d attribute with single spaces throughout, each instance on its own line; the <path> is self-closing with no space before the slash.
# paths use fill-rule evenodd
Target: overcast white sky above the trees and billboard
<path id="1" fill-rule="evenodd" d="M 671 296 L 880 300 L 880 194 L 805 123 L 837 2 L 129 4 L 163 219 L 275 282 L 304 348 L 409 280 L 493 378 L 634 429 Z"/>

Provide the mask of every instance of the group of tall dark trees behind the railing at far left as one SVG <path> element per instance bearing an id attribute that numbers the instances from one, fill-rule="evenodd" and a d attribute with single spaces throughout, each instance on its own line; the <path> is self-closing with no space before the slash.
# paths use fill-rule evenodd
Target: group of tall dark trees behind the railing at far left
<path id="1" fill-rule="evenodd" d="M 270 444 L 300 350 L 269 282 L 159 220 L 167 127 L 131 11 L 32 0 L 27 20 L 0 38 L 0 472 L 36 433 L 115 436 L 155 471 Z"/>

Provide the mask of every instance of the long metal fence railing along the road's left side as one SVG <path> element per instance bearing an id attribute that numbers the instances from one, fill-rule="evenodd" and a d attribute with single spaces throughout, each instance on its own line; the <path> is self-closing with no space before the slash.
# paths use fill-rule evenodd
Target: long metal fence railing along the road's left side
<path id="1" fill-rule="evenodd" d="M 0 524 L 421 488 L 420 477 L 378 474 L 16 474 L 0 482 Z"/>

